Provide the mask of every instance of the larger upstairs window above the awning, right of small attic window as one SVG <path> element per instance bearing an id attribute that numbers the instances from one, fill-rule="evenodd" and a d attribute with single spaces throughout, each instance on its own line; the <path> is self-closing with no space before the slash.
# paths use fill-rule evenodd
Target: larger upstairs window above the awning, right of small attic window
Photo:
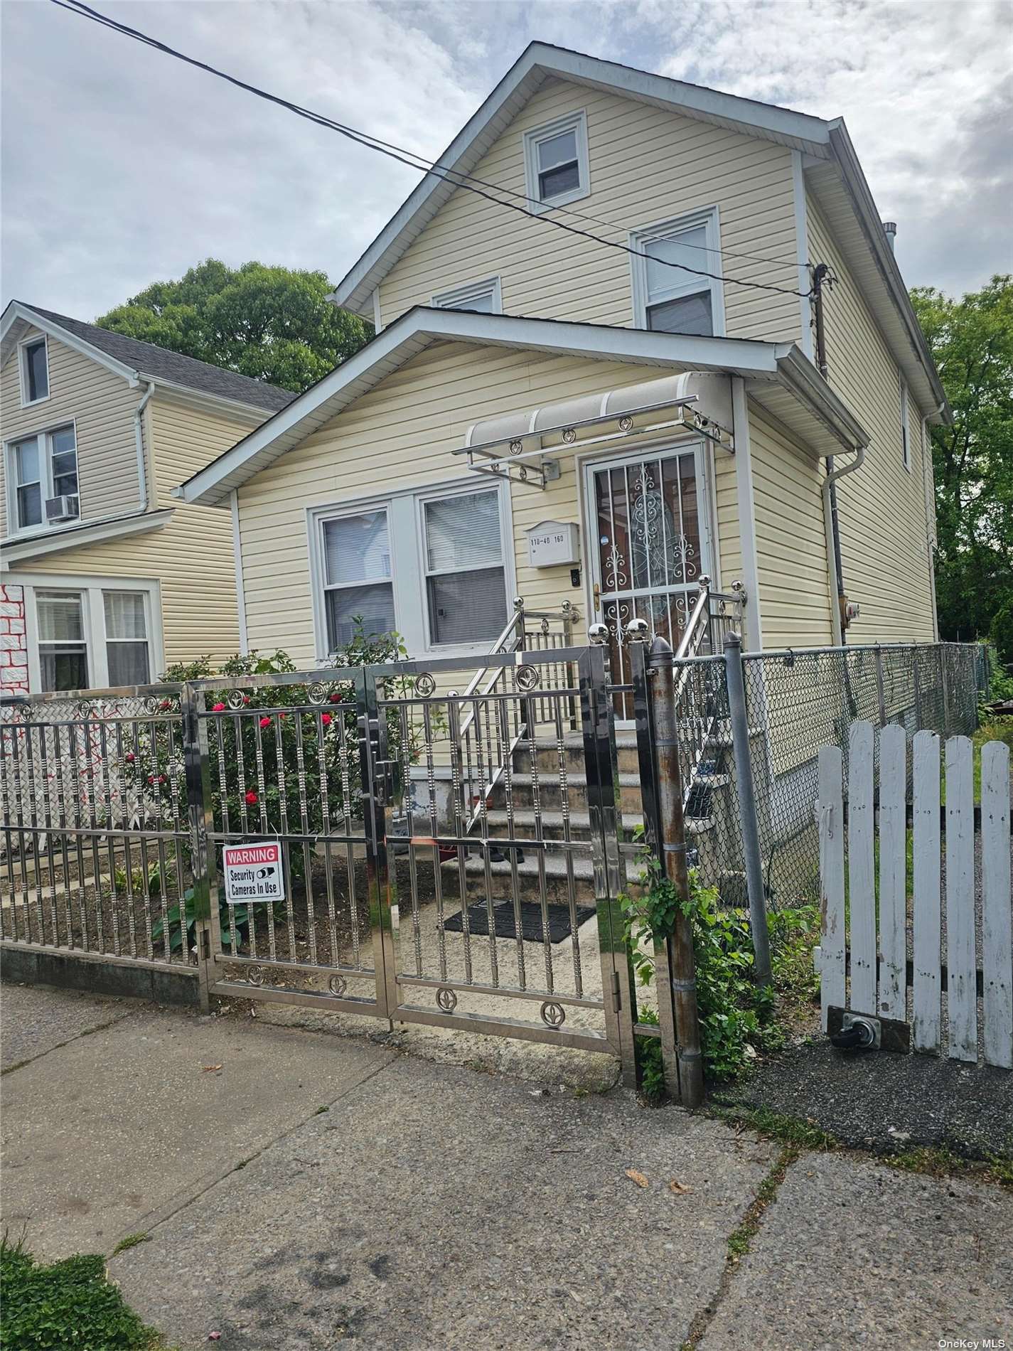
<path id="1" fill-rule="evenodd" d="M 631 234 L 629 246 L 639 255 L 631 259 L 639 328 L 705 338 L 724 335 L 717 208 L 638 230 Z"/>

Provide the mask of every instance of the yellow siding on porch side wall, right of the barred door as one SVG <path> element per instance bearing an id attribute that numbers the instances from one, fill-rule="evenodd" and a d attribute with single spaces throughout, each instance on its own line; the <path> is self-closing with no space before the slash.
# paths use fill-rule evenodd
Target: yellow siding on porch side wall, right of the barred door
<path id="1" fill-rule="evenodd" d="M 750 405 L 763 646 L 833 642 L 820 461 Z"/>

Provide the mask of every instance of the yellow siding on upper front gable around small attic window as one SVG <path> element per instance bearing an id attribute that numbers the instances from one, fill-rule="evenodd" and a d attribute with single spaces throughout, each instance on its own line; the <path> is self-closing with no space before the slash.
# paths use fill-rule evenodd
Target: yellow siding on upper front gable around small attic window
<path id="1" fill-rule="evenodd" d="M 716 205 L 723 250 L 775 259 L 724 258 L 727 334 L 797 338 L 796 296 L 729 284 L 736 278 L 789 289 L 798 285 L 786 147 L 551 80 L 506 127 L 474 176 L 523 195 L 524 132 L 581 108 L 588 113 L 592 190 L 570 211 L 596 222 L 562 208 L 539 219 L 458 190 L 381 284 L 384 324 L 412 305 L 431 304 L 442 290 L 498 274 L 504 313 L 632 327 L 629 255 L 565 234 L 546 219 L 627 245 L 631 230 Z"/>

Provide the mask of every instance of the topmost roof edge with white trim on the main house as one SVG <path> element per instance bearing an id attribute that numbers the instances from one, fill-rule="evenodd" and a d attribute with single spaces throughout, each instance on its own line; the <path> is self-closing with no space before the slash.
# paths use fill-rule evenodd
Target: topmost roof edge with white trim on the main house
<path id="1" fill-rule="evenodd" d="M 438 163 L 458 173 L 473 173 L 524 104 L 550 78 L 650 103 L 686 118 L 774 141 L 801 151 L 810 163 L 825 162 L 813 188 L 866 303 L 918 404 L 923 408 L 945 408 L 945 393 L 932 354 L 841 118 L 827 122 L 775 104 L 602 61 L 567 47 L 532 42 L 451 141 Z M 334 300 L 371 319 L 373 290 L 457 190 L 454 180 L 425 174 L 338 284 Z"/>

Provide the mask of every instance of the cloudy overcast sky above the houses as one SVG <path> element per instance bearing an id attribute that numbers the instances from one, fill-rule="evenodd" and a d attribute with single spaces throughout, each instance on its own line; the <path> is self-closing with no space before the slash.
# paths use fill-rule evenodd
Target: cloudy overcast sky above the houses
<path id="1" fill-rule="evenodd" d="M 909 285 L 1013 267 L 1013 4 L 90 0 L 435 158 L 534 38 L 844 116 Z M 4 0 L 3 300 L 92 319 L 205 257 L 338 281 L 417 176 L 81 19 Z"/>

